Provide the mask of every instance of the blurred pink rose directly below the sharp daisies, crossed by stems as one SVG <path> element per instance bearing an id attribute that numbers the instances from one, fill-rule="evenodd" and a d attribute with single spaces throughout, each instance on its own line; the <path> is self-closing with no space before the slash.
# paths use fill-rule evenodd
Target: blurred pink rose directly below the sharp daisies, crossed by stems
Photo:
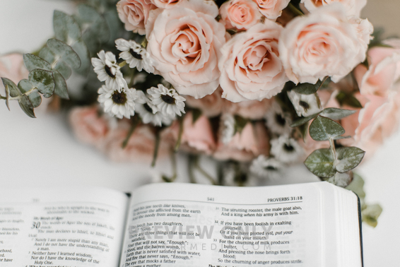
<path id="1" fill-rule="evenodd" d="M 155 148 L 153 128 L 143 124 L 137 126 L 127 146 L 122 148 L 129 128 L 130 124 L 127 121 L 119 121 L 117 128 L 110 130 L 98 148 L 115 162 L 151 162 Z M 165 157 L 169 151 L 169 144 L 160 142 L 158 157 Z"/>

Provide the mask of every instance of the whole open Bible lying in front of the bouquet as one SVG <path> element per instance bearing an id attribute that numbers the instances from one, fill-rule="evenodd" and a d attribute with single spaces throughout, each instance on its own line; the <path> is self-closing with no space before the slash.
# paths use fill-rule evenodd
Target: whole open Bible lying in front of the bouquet
<path id="1" fill-rule="evenodd" d="M 362 266 L 360 235 L 327 182 L 0 189 L 2 267 Z"/>

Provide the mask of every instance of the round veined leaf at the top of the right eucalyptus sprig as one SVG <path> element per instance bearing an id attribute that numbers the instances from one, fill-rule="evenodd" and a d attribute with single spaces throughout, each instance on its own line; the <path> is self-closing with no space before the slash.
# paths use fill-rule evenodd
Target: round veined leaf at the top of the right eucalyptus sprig
<path id="1" fill-rule="evenodd" d="M 310 125 L 310 136 L 315 141 L 326 141 L 343 133 L 344 129 L 340 124 L 319 115 Z"/>

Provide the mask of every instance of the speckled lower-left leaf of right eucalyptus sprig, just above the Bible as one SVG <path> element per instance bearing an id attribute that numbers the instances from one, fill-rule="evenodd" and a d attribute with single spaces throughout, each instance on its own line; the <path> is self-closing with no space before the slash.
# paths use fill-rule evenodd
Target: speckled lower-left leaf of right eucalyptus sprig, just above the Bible
<path id="1" fill-rule="evenodd" d="M 336 174 L 334 158 L 329 148 L 315 150 L 304 163 L 307 169 L 318 177 L 329 178 Z"/>

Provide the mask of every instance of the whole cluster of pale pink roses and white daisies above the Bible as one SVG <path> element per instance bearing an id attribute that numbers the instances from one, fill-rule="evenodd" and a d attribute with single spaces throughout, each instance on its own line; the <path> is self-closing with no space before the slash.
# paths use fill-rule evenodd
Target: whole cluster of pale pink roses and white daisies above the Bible
<path id="1" fill-rule="evenodd" d="M 83 141 L 107 143 L 102 149 L 118 155 L 112 156 L 116 160 L 151 154 L 146 152 L 153 150 L 155 134 L 144 125 L 151 123 L 169 126 L 161 133 L 161 154 L 179 139 L 181 148 L 221 160 L 271 155 L 253 165 L 276 169 L 326 144 L 295 136 L 293 116 L 273 96 L 288 81 L 314 84 L 329 76 L 328 88 L 315 94 L 288 93 L 295 111 L 307 117 L 325 107 L 352 109 L 338 95 L 354 96 L 363 109 L 341 120 L 346 134 L 353 136 L 341 143 L 369 151 L 368 146 L 380 144 L 399 121 L 395 82 L 400 76 L 400 41 L 370 49 L 369 66 L 361 64 L 372 39 L 371 23 L 359 17 L 365 4 L 301 0 L 298 9 L 290 0 L 229 0 L 218 8 L 211 0 L 121 0 L 119 18 L 126 30 L 146 35 L 146 47 L 117 40 L 120 58 L 166 82 L 146 93 L 129 89 L 114 54 L 100 52 L 100 59 L 93 59 L 100 81 L 106 83 L 99 90 L 100 104 L 119 118 L 136 111 L 143 124 L 124 150 L 119 148 L 129 131 L 127 120 L 113 129 L 94 109 L 76 109 L 73 126 Z M 182 123 L 174 121 L 185 110 Z M 199 117 L 195 110 L 201 111 Z M 218 130 L 213 117 L 218 117 Z M 237 117 L 245 121 L 239 127 Z"/>

